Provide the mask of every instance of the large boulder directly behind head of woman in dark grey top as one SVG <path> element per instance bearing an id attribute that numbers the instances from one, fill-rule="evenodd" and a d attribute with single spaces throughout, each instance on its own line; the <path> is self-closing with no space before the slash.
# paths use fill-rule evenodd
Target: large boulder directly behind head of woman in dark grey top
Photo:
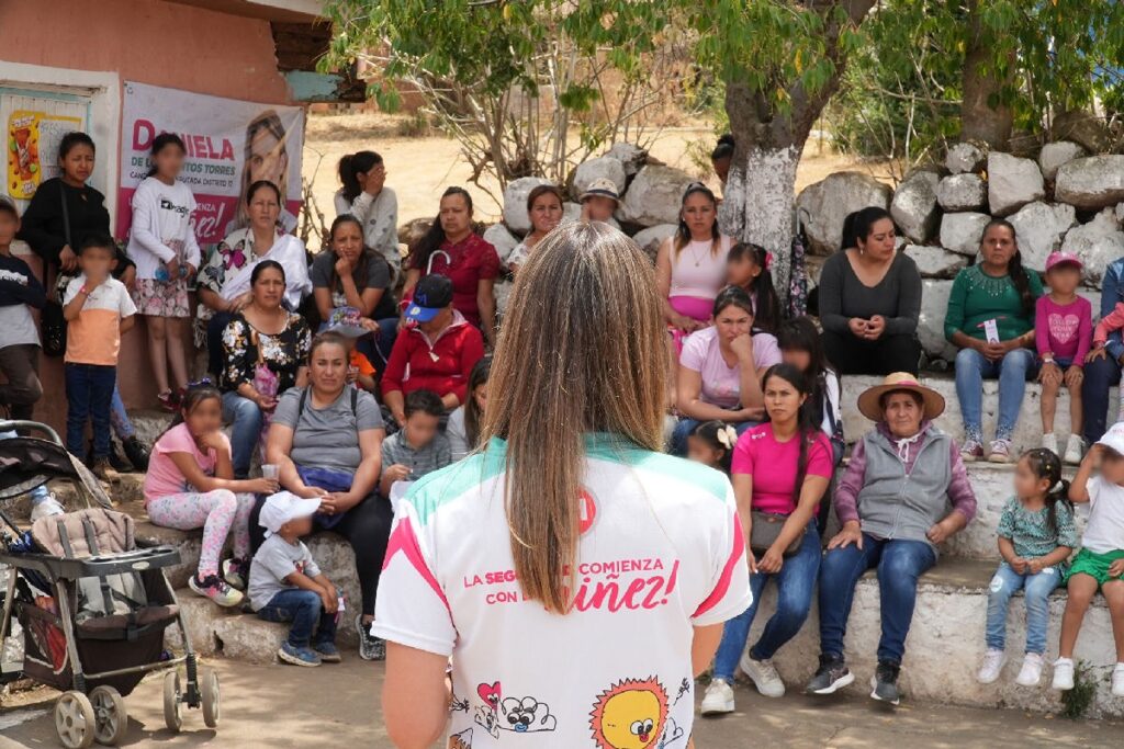
<path id="1" fill-rule="evenodd" d="M 796 204 L 810 217 L 805 230 L 812 252 L 822 255 L 839 252 L 843 219 L 870 205 L 888 209 L 891 194 L 889 185 L 861 172 L 836 172 L 805 188 Z"/>

